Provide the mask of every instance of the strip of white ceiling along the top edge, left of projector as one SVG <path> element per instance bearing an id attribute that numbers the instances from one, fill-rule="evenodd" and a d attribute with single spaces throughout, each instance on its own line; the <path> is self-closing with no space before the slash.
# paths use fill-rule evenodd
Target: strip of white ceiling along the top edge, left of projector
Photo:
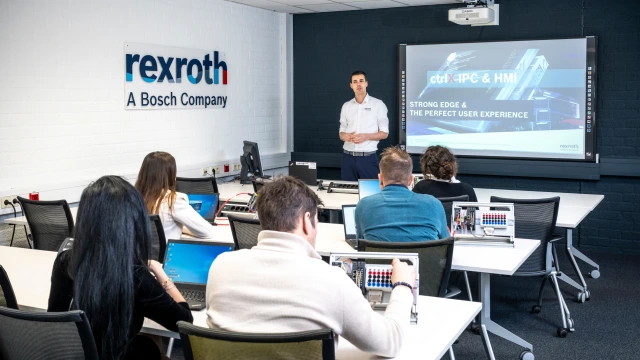
<path id="1" fill-rule="evenodd" d="M 382 9 L 403 6 L 461 4 L 460 0 L 229 0 L 290 14 Z"/>

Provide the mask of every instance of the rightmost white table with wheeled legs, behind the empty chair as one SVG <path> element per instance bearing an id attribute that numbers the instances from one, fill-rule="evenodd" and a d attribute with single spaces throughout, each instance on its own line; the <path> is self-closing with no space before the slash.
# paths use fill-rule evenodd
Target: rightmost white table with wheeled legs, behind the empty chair
<path id="1" fill-rule="evenodd" d="M 578 267 L 576 257 L 593 266 L 595 270 L 589 272 L 589 275 L 594 279 L 600 277 L 600 266 L 595 261 L 584 255 L 578 249 L 573 247 L 573 229 L 584 220 L 596 206 L 598 206 L 604 195 L 592 195 L 592 194 L 575 194 L 575 193 L 554 193 L 554 192 L 541 192 L 541 191 L 523 191 L 523 190 L 499 190 L 499 189 L 474 189 L 479 202 L 490 202 L 491 196 L 499 196 L 512 199 L 544 199 L 559 196 L 560 207 L 558 209 L 558 220 L 556 226 L 565 229 L 566 246 L 565 252 L 569 257 L 571 266 L 578 275 L 580 284 L 571 279 L 569 276 L 558 276 L 558 280 L 562 280 L 574 288 L 580 290 L 578 293 L 578 300 L 584 302 L 589 299 L 591 294 L 587 288 L 587 282 L 584 280 L 582 271 Z"/>

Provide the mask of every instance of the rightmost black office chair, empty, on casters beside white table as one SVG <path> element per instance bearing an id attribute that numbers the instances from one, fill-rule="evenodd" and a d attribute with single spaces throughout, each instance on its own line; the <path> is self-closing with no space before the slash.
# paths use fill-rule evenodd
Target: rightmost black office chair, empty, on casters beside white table
<path id="1" fill-rule="evenodd" d="M 552 284 L 562 311 L 562 327 L 559 327 L 556 333 L 560 337 L 566 337 L 569 331 L 574 331 L 574 322 L 558 286 L 558 258 L 553 246 L 553 243 L 560 239 L 553 237 L 558 218 L 558 208 L 560 207 L 560 197 L 507 199 L 492 196 L 491 202 L 513 203 L 516 238 L 540 240 L 540 246 L 525 260 L 513 276 L 543 277 L 538 294 L 538 303 L 531 308 L 531 312 L 534 314 L 540 313 L 542 309 L 542 292 L 545 284 L 547 281 Z"/>

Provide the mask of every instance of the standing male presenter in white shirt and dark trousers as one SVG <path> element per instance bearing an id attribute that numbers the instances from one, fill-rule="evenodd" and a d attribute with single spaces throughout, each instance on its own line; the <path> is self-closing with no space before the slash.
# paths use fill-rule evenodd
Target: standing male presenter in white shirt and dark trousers
<path id="1" fill-rule="evenodd" d="M 354 71 L 349 86 L 356 97 L 340 111 L 340 140 L 344 141 L 341 176 L 345 181 L 378 178 L 378 142 L 389 136 L 387 107 L 367 94 L 368 85 L 367 74 Z"/>

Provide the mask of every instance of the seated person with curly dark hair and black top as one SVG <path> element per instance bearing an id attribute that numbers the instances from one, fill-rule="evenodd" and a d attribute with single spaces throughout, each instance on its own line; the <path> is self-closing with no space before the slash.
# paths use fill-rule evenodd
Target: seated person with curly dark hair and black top
<path id="1" fill-rule="evenodd" d="M 469 184 L 456 180 L 458 163 L 456 157 L 444 146 L 429 146 L 420 158 L 424 180 L 413 187 L 420 194 L 447 198 L 469 195 L 470 202 L 477 202 L 476 192 Z"/>

